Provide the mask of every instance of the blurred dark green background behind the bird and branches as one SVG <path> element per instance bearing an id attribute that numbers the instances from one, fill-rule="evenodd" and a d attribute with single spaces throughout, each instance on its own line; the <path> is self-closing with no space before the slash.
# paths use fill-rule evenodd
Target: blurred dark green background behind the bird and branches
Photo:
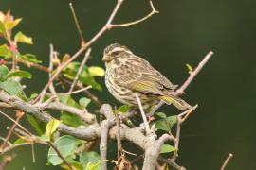
<path id="1" fill-rule="evenodd" d="M 36 54 L 47 65 L 49 43 L 60 54 L 73 54 L 80 47 L 69 2 L 1 0 L 0 10 L 11 9 L 15 17 L 24 18 L 18 29 L 32 36 L 34 45 L 21 46 L 21 51 Z M 105 24 L 116 0 L 71 2 L 89 40 Z M 182 84 L 188 76 L 185 64 L 195 67 L 213 50 L 214 56 L 183 96 L 191 104 L 198 103 L 199 108 L 182 127 L 178 162 L 192 170 L 215 170 L 231 152 L 234 158 L 227 170 L 256 169 L 256 1 L 161 0 L 154 4 L 160 13 L 146 22 L 106 32 L 92 45 L 88 63 L 103 66 L 103 48 L 119 42 L 148 59 L 174 84 Z M 127 0 L 115 23 L 136 20 L 150 10 L 147 0 Z M 34 79 L 27 81 L 27 93 L 38 93 L 47 75 L 32 73 Z M 105 87 L 100 94 L 103 101 L 119 105 Z M 178 113 L 173 107 L 161 110 Z M 1 117 L 1 135 L 10 125 Z M 29 146 L 17 149 L 9 169 L 58 169 L 46 166 L 46 150 L 46 146 L 36 147 L 37 161 L 32 163 Z"/>

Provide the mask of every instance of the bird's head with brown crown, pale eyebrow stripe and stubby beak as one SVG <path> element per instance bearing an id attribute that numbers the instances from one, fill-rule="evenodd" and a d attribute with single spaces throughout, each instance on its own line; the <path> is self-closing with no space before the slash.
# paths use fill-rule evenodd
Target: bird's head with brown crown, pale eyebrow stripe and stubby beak
<path id="1" fill-rule="evenodd" d="M 102 60 L 106 67 L 115 67 L 131 56 L 133 56 L 133 53 L 129 48 L 119 43 L 113 43 L 105 47 Z"/>

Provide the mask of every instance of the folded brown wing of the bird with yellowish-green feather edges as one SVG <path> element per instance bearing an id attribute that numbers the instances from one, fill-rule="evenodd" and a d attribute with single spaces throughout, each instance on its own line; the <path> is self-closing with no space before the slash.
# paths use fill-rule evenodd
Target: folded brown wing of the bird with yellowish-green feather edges
<path id="1" fill-rule="evenodd" d="M 156 71 L 148 61 L 138 57 L 127 59 L 115 72 L 116 83 L 137 92 L 164 95 L 165 90 L 174 90 L 174 85 L 165 76 Z"/>

